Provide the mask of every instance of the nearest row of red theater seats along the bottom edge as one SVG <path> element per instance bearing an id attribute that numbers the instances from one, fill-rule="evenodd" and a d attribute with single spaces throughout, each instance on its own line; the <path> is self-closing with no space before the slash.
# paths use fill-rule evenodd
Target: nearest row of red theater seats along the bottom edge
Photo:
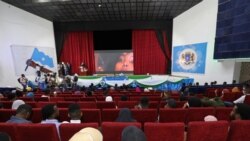
<path id="1" fill-rule="evenodd" d="M 129 125 L 141 124 L 103 122 L 103 141 L 121 141 L 122 130 Z M 99 128 L 98 123 L 61 124 L 59 135 L 53 124 L 0 123 L 0 132 L 8 133 L 12 141 L 68 141 L 85 127 Z M 250 121 L 190 122 L 185 132 L 183 123 L 147 122 L 142 129 L 147 141 L 249 141 Z"/>

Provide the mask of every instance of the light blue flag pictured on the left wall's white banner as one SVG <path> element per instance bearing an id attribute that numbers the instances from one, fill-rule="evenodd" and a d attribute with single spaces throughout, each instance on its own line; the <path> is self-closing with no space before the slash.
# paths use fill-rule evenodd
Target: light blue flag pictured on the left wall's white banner
<path id="1" fill-rule="evenodd" d="M 39 51 L 37 48 L 34 49 L 31 59 L 33 61 L 39 62 L 42 65 L 47 65 L 50 68 L 54 67 L 54 63 L 53 63 L 53 59 L 52 57 L 46 55 L 45 53 L 43 53 L 42 51 Z"/>

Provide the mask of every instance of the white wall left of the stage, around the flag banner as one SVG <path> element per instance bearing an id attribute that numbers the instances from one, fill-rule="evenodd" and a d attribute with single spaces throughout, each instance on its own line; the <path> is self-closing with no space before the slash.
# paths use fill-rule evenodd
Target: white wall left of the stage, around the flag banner
<path id="1" fill-rule="evenodd" d="M 53 23 L 0 1 L 0 87 L 21 87 L 17 83 L 19 76 L 15 75 L 11 45 L 55 49 Z"/>

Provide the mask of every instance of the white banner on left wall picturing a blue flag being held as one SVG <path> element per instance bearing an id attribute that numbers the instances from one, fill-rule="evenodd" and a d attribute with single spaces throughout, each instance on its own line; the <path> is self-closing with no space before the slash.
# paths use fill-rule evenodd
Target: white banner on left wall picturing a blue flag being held
<path id="1" fill-rule="evenodd" d="M 54 48 L 37 46 L 11 46 L 16 75 L 33 75 L 37 70 L 44 73 L 56 71 Z"/>

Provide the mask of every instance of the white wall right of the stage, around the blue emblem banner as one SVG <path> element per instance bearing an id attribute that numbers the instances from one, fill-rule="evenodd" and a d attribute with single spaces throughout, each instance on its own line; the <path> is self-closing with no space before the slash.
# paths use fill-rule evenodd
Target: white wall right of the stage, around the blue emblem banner
<path id="1" fill-rule="evenodd" d="M 239 66 L 235 66 L 235 61 L 213 60 L 217 8 L 218 0 L 203 0 L 174 19 L 173 47 L 202 42 L 208 42 L 208 46 L 205 74 L 172 72 L 173 75 L 188 76 L 200 84 L 214 80 L 219 84 L 239 80 L 239 73 L 234 73 L 235 67 Z"/>

